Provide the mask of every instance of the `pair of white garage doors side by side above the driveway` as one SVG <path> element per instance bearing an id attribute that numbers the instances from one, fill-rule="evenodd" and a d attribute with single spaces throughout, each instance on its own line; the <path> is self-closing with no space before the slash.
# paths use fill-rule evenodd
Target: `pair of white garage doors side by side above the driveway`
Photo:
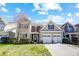
<path id="1" fill-rule="evenodd" d="M 43 43 L 61 43 L 62 42 L 62 35 L 61 34 L 43 34 L 42 35 Z"/>

